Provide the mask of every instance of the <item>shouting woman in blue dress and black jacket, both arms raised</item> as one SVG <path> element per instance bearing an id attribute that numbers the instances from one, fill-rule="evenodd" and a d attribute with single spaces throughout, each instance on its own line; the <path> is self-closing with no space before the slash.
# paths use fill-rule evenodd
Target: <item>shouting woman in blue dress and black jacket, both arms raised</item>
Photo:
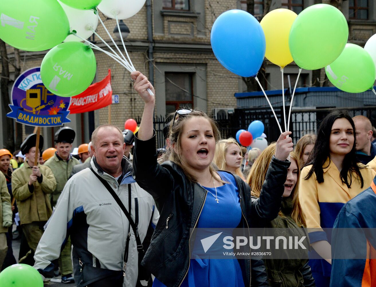
<path id="1" fill-rule="evenodd" d="M 171 161 L 157 163 L 152 116 L 155 97 L 147 92 L 147 88 L 153 90 L 153 87 L 141 73 L 134 72 L 131 76 L 135 79 L 135 90 L 145 102 L 135 139 L 134 177 L 153 195 L 161 213 L 143 260 L 143 265 L 156 276 L 153 285 L 267 286 L 261 260 L 191 258 L 190 229 L 246 227 L 248 230 L 276 217 L 290 166 L 287 156 L 293 143 L 287 135 L 291 133 L 279 137 L 260 197 L 252 201 L 249 186 L 240 177 L 212 168 L 219 131 L 203 112 L 176 111 L 169 133 Z"/>

